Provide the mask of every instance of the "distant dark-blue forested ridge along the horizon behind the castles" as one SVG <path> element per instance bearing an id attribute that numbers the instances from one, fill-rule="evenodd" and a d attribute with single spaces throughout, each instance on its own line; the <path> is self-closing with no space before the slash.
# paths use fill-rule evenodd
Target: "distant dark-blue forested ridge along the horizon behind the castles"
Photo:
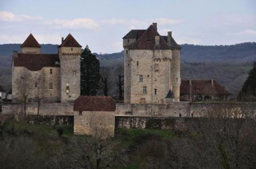
<path id="1" fill-rule="evenodd" d="M 181 45 L 181 62 L 251 62 L 256 60 L 256 42 L 246 42 L 236 45 Z M 13 50 L 20 51 L 20 44 L 0 45 L 0 57 L 11 55 Z M 42 53 L 57 53 L 57 45 L 42 44 Z M 92 51 L 93 52 L 93 51 Z M 110 54 L 97 54 L 97 58 L 120 59 L 123 57 L 123 51 Z"/>

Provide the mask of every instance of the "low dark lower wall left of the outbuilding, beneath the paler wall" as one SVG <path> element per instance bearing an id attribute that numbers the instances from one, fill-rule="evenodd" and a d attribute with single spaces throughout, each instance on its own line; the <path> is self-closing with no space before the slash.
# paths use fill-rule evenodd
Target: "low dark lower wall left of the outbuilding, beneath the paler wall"
<path id="1" fill-rule="evenodd" d="M 42 125 L 64 125 L 64 124 L 74 124 L 73 116 L 35 116 L 35 115 L 15 115 L 15 120 L 17 122 L 26 122 L 32 124 L 42 124 Z"/>

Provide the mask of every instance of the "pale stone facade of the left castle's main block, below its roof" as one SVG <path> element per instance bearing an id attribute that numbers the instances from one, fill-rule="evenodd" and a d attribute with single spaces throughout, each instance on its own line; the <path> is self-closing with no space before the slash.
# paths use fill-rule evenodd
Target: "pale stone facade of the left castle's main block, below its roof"
<path id="1" fill-rule="evenodd" d="M 50 73 L 52 69 L 52 74 Z M 37 87 L 35 86 L 37 83 Z M 52 89 L 50 89 L 52 83 Z M 44 67 L 39 71 L 30 71 L 25 67 L 12 67 L 12 98 L 22 101 L 28 93 L 28 101 L 44 98 L 45 102 L 60 101 L 60 68 Z"/>

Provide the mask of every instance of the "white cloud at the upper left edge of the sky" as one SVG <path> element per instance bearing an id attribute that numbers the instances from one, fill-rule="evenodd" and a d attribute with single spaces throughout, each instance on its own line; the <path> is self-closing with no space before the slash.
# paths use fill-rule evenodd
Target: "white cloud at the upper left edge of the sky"
<path id="1" fill-rule="evenodd" d="M 23 22 L 23 21 L 36 21 L 42 20 L 39 16 L 29 16 L 29 15 L 15 15 L 11 12 L 0 11 L 0 21 L 6 22 Z"/>

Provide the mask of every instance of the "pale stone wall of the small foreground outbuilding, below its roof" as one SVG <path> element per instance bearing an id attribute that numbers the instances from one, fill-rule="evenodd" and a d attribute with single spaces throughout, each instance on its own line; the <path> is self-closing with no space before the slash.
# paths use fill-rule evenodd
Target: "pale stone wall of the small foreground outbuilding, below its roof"
<path id="1" fill-rule="evenodd" d="M 75 111 L 74 134 L 114 137 L 115 114 L 113 111 Z"/>

